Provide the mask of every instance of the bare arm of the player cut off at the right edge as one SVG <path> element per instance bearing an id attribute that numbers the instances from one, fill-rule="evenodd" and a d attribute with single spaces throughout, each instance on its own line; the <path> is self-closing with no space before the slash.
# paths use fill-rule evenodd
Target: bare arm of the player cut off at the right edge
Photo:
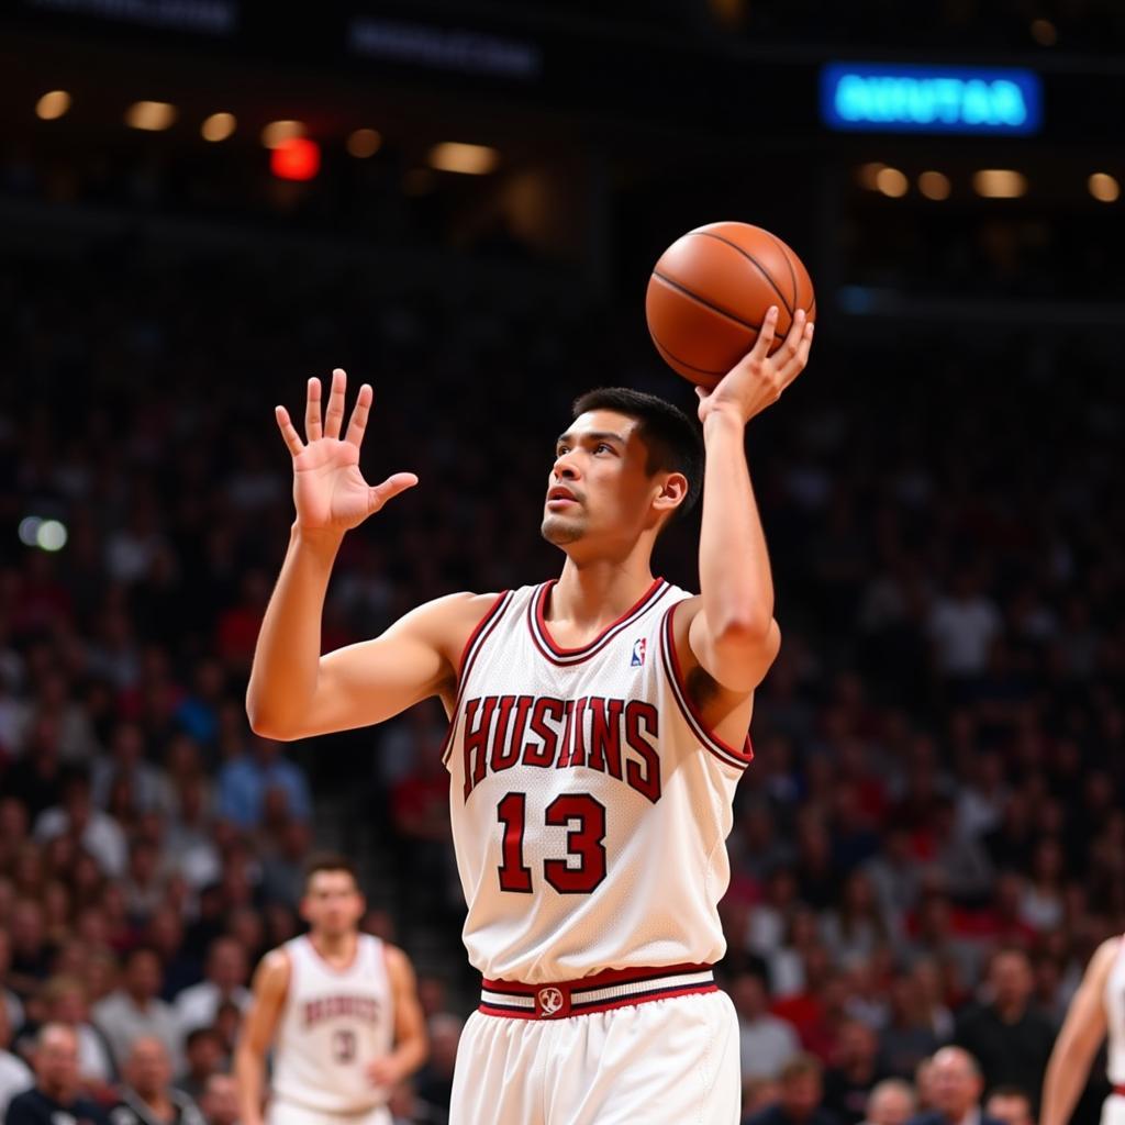
<path id="1" fill-rule="evenodd" d="M 1040 1125 L 1066 1125 L 1086 1086 L 1090 1063 L 1106 1034 L 1106 981 L 1120 945 L 1119 937 L 1102 942 L 1074 993 L 1047 1063 Z"/>

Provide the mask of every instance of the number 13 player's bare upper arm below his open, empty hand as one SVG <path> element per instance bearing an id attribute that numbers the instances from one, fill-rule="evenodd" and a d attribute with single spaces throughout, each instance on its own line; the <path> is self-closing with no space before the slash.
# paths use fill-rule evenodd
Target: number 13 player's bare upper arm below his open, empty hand
<path id="1" fill-rule="evenodd" d="M 255 724 L 291 741 L 382 722 L 431 695 L 450 694 L 460 652 L 495 595 L 450 594 L 412 610 L 386 632 L 322 656 L 300 716 Z"/>

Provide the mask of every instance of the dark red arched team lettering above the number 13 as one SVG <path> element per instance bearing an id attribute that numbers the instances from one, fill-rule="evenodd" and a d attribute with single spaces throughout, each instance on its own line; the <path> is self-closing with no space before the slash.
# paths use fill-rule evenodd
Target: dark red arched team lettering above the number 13
<path id="1" fill-rule="evenodd" d="M 660 800 L 659 712 L 644 700 L 483 695 L 464 705 L 464 796 L 513 766 L 582 767 Z"/>

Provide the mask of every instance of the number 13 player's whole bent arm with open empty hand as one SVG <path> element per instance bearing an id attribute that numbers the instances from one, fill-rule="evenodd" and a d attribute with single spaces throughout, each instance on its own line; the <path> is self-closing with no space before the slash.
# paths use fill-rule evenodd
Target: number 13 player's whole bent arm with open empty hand
<path id="1" fill-rule="evenodd" d="M 296 519 L 270 598 L 246 692 L 251 727 L 281 740 L 381 722 L 440 694 L 456 677 L 461 646 L 490 600 L 454 594 L 420 606 L 381 637 L 321 655 L 328 578 L 344 534 L 417 484 L 396 472 L 369 486 L 359 469 L 371 388 L 359 392 L 348 432 L 344 372 L 333 372 L 323 428 L 321 382 L 310 379 L 302 441 L 289 414 L 277 423 L 292 456 Z"/>

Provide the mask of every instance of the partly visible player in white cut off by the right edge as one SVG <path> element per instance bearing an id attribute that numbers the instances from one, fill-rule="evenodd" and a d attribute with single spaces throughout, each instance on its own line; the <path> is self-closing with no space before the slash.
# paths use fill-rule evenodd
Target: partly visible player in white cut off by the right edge
<path id="1" fill-rule="evenodd" d="M 1043 1082 L 1040 1125 L 1066 1125 L 1109 1032 L 1108 1071 L 1114 1092 L 1101 1107 L 1101 1125 L 1125 1125 L 1125 939 L 1102 942 L 1055 1040 Z"/>

